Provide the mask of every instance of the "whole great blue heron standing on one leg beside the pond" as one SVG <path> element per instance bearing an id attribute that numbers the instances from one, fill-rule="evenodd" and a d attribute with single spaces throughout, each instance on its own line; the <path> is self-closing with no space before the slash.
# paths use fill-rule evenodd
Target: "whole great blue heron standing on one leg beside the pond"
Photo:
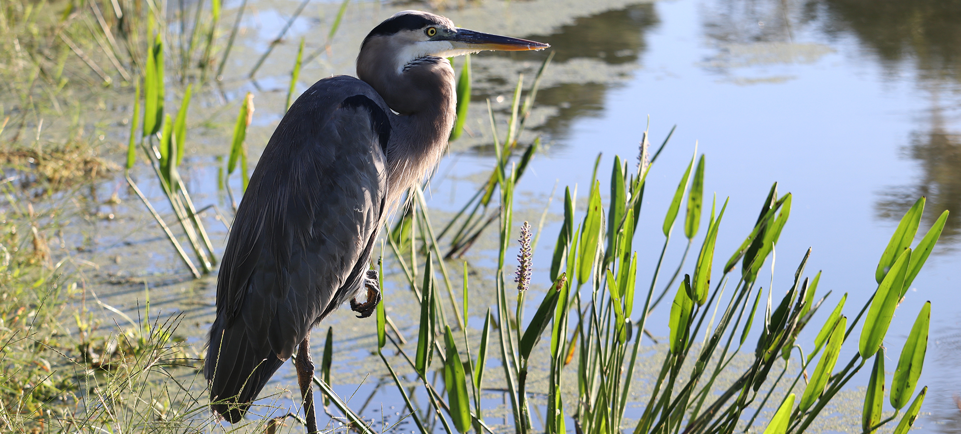
<path id="1" fill-rule="evenodd" d="M 344 301 L 360 318 L 380 302 L 368 270 L 378 232 L 436 166 L 454 125 L 454 69 L 445 58 L 547 47 L 398 12 L 364 38 L 359 80 L 323 79 L 294 102 L 254 170 L 220 265 L 204 365 L 213 411 L 240 421 L 297 350 L 308 432 L 316 431 L 310 328 Z M 364 288 L 367 300 L 357 302 Z"/>

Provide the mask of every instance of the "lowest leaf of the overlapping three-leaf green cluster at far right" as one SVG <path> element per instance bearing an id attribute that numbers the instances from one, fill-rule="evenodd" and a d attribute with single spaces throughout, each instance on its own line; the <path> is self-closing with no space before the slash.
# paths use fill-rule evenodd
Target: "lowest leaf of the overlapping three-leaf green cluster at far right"
<path id="1" fill-rule="evenodd" d="M 900 288 L 904 284 L 904 275 L 910 261 L 911 249 L 906 249 L 900 254 L 887 276 L 881 280 L 881 284 L 877 286 L 875 299 L 871 301 L 871 308 L 868 309 L 864 327 L 861 329 L 858 351 L 863 358 L 875 355 L 877 348 L 881 346 L 881 341 L 884 340 L 884 335 L 888 332 L 891 317 L 894 316 L 895 308 L 900 301 Z"/>

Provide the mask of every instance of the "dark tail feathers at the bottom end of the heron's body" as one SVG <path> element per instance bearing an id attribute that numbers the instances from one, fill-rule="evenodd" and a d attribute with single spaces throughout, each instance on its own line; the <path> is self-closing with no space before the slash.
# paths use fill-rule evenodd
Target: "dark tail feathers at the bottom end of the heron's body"
<path id="1" fill-rule="evenodd" d="M 255 348 L 242 324 L 214 324 L 204 364 L 210 408 L 231 423 L 243 419 L 251 402 L 283 365 L 273 350 Z"/>

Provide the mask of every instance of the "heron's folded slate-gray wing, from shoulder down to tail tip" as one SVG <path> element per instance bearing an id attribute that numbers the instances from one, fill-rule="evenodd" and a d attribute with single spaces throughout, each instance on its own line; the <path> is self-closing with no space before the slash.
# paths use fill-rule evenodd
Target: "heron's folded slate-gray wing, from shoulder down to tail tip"
<path id="1" fill-rule="evenodd" d="M 369 85 L 333 77 L 284 115 L 221 262 L 205 366 L 211 398 L 253 400 L 310 326 L 362 288 L 385 212 L 384 107 Z"/>

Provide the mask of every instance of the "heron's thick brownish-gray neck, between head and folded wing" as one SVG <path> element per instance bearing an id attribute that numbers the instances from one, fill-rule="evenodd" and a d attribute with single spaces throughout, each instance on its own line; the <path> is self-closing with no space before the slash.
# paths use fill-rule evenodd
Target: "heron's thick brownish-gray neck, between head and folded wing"
<path id="1" fill-rule="evenodd" d="M 357 75 L 399 113 L 391 116 L 387 143 L 388 202 L 392 204 L 407 188 L 423 181 L 447 149 L 456 117 L 454 69 L 447 60 L 428 58 L 411 62 L 400 73 L 375 66 L 358 67 Z"/>

